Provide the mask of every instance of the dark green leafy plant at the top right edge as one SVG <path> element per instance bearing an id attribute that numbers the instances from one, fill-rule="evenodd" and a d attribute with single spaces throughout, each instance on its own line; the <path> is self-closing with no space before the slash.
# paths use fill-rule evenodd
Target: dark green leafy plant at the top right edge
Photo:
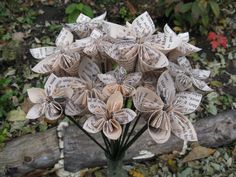
<path id="1" fill-rule="evenodd" d="M 176 26 L 196 28 L 202 34 L 207 34 L 209 23 L 220 16 L 217 0 L 160 0 L 157 6 Z"/>

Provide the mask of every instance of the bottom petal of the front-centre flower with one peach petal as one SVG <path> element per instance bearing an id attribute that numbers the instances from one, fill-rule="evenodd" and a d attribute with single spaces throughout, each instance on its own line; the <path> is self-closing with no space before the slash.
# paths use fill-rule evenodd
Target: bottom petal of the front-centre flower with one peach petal
<path id="1" fill-rule="evenodd" d="M 109 119 L 103 125 L 103 133 L 109 139 L 117 140 L 122 133 L 122 127 L 115 119 Z"/>

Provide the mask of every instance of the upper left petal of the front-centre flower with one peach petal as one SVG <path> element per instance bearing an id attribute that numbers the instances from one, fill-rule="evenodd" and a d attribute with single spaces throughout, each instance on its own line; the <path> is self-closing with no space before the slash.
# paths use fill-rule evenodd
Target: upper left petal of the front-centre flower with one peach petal
<path id="1" fill-rule="evenodd" d="M 107 106 L 103 101 L 97 98 L 88 98 L 88 109 L 92 114 L 105 115 Z"/>

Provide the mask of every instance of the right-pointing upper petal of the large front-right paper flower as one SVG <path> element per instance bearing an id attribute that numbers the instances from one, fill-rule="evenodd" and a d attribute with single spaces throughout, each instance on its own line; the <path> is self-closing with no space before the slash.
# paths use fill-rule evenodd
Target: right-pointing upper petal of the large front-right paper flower
<path id="1" fill-rule="evenodd" d="M 195 92 L 180 92 L 176 94 L 173 105 L 175 109 L 183 114 L 194 112 L 202 99 L 202 95 Z"/>

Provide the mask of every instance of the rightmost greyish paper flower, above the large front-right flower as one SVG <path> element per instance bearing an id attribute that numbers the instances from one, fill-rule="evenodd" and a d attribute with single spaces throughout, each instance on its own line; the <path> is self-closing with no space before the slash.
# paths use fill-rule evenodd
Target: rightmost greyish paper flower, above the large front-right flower
<path id="1" fill-rule="evenodd" d="M 179 91 L 188 90 L 194 85 L 202 91 L 212 91 L 204 82 L 209 76 L 210 71 L 202 69 L 193 69 L 186 57 L 177 59 L 179 65 L 170 62 L 170 74 L 175 77 L 175 86 Z"/>

